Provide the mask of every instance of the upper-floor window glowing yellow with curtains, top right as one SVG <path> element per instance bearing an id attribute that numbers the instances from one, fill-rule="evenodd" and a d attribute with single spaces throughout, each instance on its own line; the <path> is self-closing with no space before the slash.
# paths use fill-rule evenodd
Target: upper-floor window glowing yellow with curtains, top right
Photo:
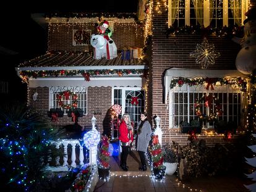
<path id="1" fill-rule="evenodd" d="M 169 1 L 169 25 L 242 25 L 249 1 L 241 0 L 174 0 Z"/>

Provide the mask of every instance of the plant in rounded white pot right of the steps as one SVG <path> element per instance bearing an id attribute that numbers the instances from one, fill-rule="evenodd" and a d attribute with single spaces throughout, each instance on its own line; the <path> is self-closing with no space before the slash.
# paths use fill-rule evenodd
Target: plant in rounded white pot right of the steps
<path id="1" fill-rule="evenodd" d="M 164 151 L 164 163 L 163 165 L 166 167 L 166 174 L 173 175 L 173 173 L 177 170 L 177 154 L 173 149 L 173 146 L 170 144 L 166 144 L 163 146 Z"/>

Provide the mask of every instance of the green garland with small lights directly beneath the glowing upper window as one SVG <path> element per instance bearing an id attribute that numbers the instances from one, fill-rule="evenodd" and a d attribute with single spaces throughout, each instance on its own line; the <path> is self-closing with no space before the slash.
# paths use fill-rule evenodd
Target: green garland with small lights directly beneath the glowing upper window
<path id="1" fill-rule="evenodd" d="M 169 35 L 213 35 L 215 34 L 218 37 L 224 36 L 233 38 L 233 36 L 244 36 L 244 26 L 239 27 L 238 25 L 233 25 L 226 27 L 207 27 L 204 28 L 202 25 L 191 25 L 191 26 L 182 26 L 182 27 L 169 27 L 166 30 L 166 37 Z"/>

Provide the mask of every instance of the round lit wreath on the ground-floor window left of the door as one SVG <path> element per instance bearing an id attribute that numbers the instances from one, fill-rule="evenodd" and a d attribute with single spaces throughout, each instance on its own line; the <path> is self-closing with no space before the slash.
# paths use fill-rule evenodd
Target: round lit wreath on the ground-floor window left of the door
<path id="1" fill-rule="evenodd" d="M 57 94 L 57 101 L 59 104 L 59 107 L 62 107 L 64 109 L 71 109 L 71 108 L 76 108 L 77 107 L 77 99 L 78 96 L 72 91 L 63 91 L 59 92 Z M 70 104 L 64 104 L 64 101 L 69 101 L 72 100 L 72 103 Z"/>

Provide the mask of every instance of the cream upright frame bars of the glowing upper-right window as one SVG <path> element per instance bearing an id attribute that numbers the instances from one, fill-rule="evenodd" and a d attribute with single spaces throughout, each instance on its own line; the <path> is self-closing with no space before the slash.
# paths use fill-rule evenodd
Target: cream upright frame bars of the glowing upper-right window
<path id="1" fill-rule="evenodd" d="M 191 0 L 184 0 L 185 1 L 185 25 L 190 25 L 190 1 Z M 226 25 L 228 26 L 228 1 L 230 0 L 223 0 L 223 27 Z M 242 1 L 242 20 L 241 25 L 245 20 L 245 12 L 249 9 L 249 0 L 241 0 Z M 210 0 L 204 0 L 203 4 L 203 25 L 208 27 L 210 25 Z M 171 0 L 169 0 L 169 11 L 168 11 L 168 26 L 171 25 Z"/>

